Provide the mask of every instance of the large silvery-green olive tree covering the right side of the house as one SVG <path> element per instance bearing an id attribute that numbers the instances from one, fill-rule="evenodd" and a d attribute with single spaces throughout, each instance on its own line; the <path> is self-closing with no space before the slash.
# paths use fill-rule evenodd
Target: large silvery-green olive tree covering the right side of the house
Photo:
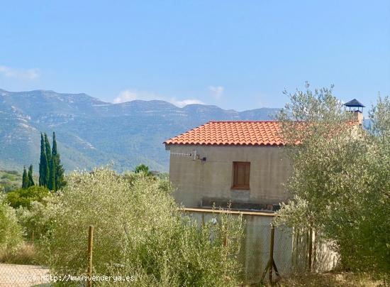
<path id="1" fill-rule="evenodd" d="M 348 268 L 389 272 L 389 97 L 379 97 L 364 131 L 331 88 L 287 95 L 278 118 L 293 166 L 292 199 L 277 222 L 335 240 Z"/>

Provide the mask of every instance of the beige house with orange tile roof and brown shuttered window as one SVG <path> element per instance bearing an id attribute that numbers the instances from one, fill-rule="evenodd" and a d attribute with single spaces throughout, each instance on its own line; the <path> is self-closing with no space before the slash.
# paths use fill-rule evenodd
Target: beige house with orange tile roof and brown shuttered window
<path id="1" fill-rule="evenodd" d="M 275 210 L 291 166 L 277 121 L 210 121 L 165 141 L 174 197 L 185 207 Z"/>

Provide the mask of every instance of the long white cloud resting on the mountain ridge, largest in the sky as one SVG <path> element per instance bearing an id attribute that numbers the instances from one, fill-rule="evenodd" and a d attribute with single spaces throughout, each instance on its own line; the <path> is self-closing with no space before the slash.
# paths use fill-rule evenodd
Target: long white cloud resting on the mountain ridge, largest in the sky
<path id="1" fill-rule="evenodd" d="M 114 104 L 120 104 L 123 102 L 130 102 L 134 101 L 135 99 L 141 99 L 144 101 L 150 101 L 152 99 L 160 99 L 165 102 L 170 102 L 171 104 L 174 104 L 177 107 L 184 107 L 187 104 L 204 104 L 204 102 L 201 102 L 199 99 L 175 99 L 175 98 L 167 98 L 163 97 L 159 94 L 154 94 L 150 92 L 140 92 L 136 90 L 123 90 L 118 94 L 118 97 L 113 99 Z"/>

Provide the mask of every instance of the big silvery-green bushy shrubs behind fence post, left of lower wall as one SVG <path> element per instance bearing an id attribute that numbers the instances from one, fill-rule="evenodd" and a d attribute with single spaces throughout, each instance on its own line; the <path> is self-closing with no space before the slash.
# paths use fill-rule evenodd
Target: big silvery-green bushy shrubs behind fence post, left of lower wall
<path id="1" fill-rule="evenodd" d="M 241 219 L 224 215 L 198 227 L 171 193 L 169 181 L 144 173 L 72 173 L 48 205 L 54 223 L 42 244 L 45 264 L 52 274 L 85 274 L 92 224 L 95 275 L 132 275 L 137 286 L 238 286 Z"/>

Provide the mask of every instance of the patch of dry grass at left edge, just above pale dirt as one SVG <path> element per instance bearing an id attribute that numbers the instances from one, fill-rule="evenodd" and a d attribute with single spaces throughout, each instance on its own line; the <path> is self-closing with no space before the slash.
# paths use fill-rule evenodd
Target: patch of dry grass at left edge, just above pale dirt
<path id="1" fill-rule="evenodd" d="M 37 252 L 33 243 L 23 242 L 16 251 L 4 251 L 0 254 L 0 263 L 34 264 Z"/>

